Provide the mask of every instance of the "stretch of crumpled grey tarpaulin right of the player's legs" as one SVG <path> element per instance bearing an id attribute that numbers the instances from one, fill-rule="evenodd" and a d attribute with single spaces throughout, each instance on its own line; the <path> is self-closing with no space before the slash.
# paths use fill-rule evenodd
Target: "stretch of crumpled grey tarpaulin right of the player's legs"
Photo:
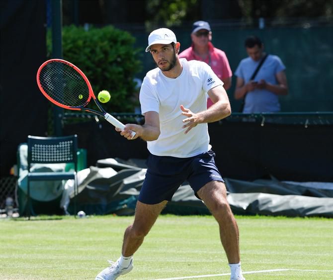
<path id="1" fill-rule="evenodd" d="M 228 201 L 239 214 L 333 217 L 333 183 L 226 179 Z"/>

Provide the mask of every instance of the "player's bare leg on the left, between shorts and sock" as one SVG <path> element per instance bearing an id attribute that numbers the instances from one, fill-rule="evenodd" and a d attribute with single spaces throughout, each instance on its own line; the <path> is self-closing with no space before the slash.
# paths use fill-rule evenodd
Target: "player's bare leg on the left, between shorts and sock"
<path id="1" fill-rule="evenodd" d="M 124 234 L 122 248 L 122 255 L 124 257 L 132 256 L 138 250 L 166 204 L 167 201 L 154 205 L 138 201 L 135 209 L 134 223 L 126 228 Z"/>

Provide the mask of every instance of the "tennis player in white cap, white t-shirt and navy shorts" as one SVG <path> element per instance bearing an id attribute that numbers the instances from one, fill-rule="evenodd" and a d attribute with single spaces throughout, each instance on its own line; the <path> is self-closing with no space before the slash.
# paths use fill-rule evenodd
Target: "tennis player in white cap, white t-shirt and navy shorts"
<path id="1" fill-rule="evenodd" d="M 127 124 L 127 139 L 147 141 L 147 173 L 135 211 L 134 223 L 125 230 L 122 255 L 100 272 L 96 280 L 113 280 L 133 269 L 139 249 L 167 201 L 187 180 L 203 200 L 220 228 L 221 242 L 231 268 L 231 280 L 244 280 L 241 270 L 239 231 L 227 201 L 224 180 L 215 165 L 209 144 L 208 122 L 230 115 L 223 82 L 206 63 L 178 58 L 180 43 L 166 28 L 153 31 L 146 52 L 157 68 L 149 71 L 140 90 L 145 124 Z M 214 104 L 207 109 L 207 93 Z"/>

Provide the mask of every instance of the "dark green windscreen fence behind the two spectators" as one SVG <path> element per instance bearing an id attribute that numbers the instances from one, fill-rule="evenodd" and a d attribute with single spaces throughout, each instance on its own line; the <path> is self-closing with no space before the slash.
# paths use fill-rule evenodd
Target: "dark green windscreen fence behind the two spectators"
<path id="1" fill-rule="evenodd" d="M 180 50 L 191 44 L 190 28 L 173 29 Z M 289 95 L 280 97 L 282 112 L 333 111 L 333 26 L 325 27 L 278 27 L 278 28 L 231 28 L 212 25 L 212 43 L 222 49 L 233 73 L 242 58 L 247 56 L 244 40 L 249 35 L 258 36 L 269 54 L 279 56 L 286 65 Z M 137 38 L 137 46 L 146 48 L 148 34 L 131 32 Z M 144 54 L 145 73 L 155 67 L 151 55 Z M 238 112 L 240 101 L 234 99 L 236 76 L 228 90 L 233 112 Z"/>

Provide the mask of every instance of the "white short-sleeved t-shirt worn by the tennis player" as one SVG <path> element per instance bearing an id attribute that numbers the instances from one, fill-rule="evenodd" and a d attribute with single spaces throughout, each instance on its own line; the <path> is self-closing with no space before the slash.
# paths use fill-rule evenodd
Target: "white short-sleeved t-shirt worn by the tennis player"
<path id="1" fill-rule="evenodd" d="M 158 112 L 161 134 L 157 140 L 147 141 L 150 153 L 156 156 L 188 158 L 207 152 L 209 134 L 207 123 L 200 123 L 184 134 L 180 105 L 194 113 L 207 109 L 207 92 L 223 82 L 205 62 L 180 58 L 181 74 L 166 77 L 160 68 L 149 71 L 140 90 L 141 112 Z"/>

